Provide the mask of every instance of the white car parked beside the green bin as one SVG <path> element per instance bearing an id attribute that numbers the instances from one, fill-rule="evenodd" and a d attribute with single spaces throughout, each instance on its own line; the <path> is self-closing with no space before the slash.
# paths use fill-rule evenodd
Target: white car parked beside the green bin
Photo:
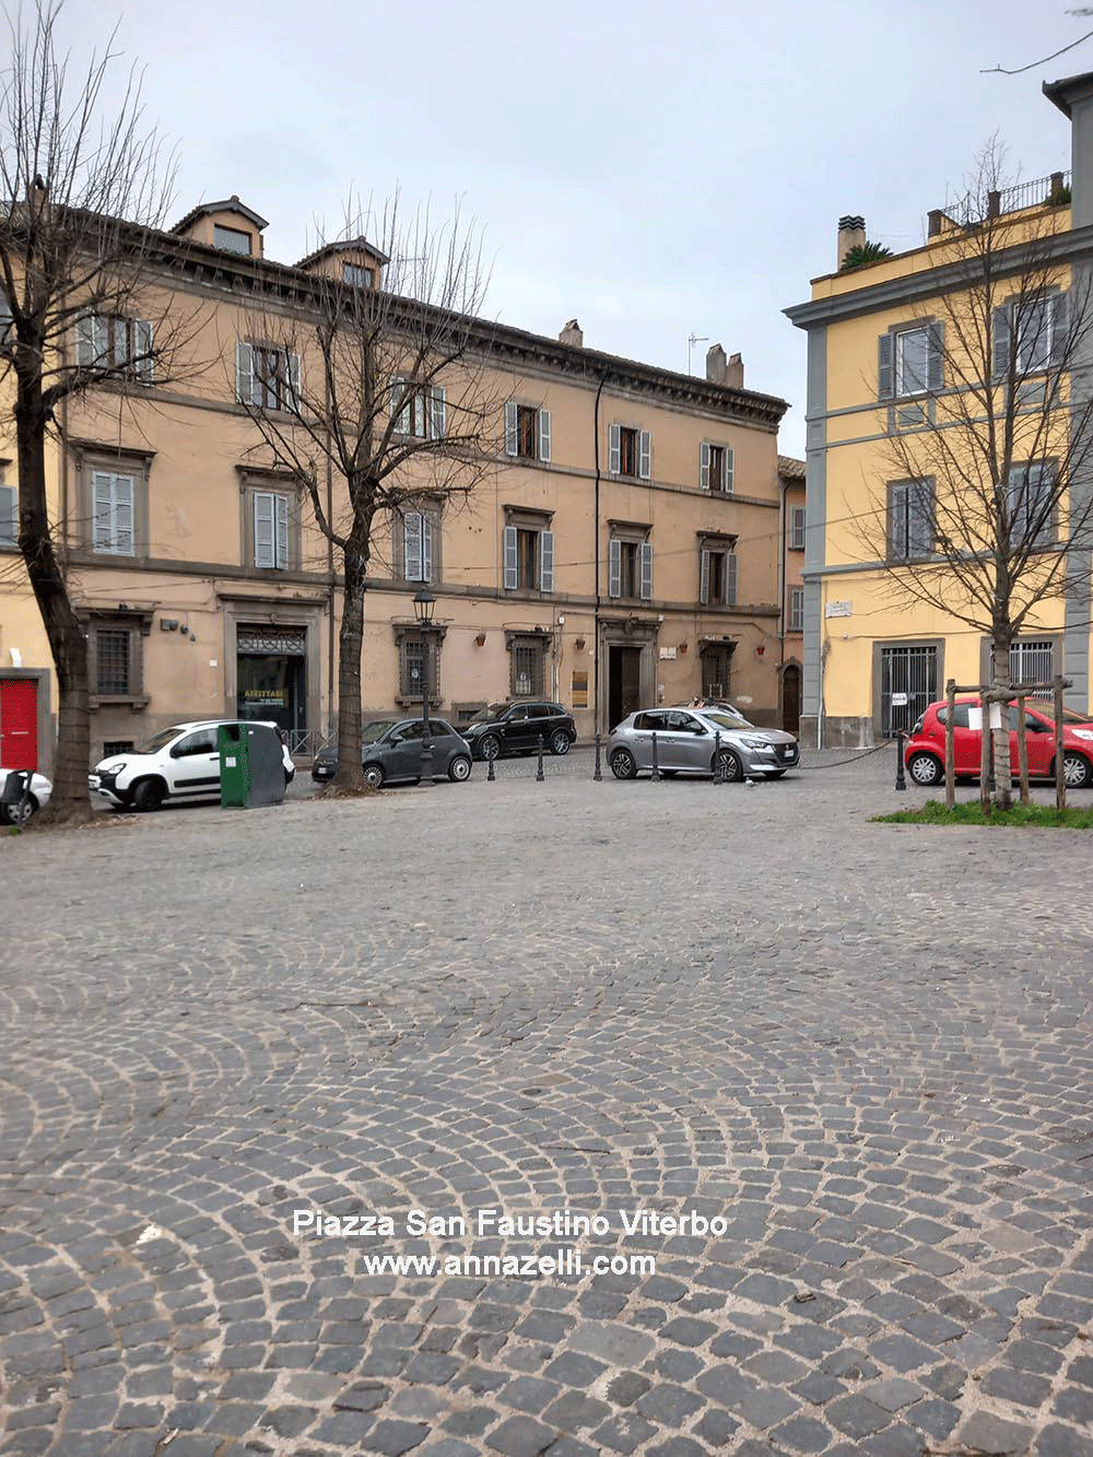
<path id="1" fill-rule="evenodd" d="M 265 723 L 275 728 L 277 724 Z M 249 720 L 254 723 L 254 720 Z M 220 750 L 216 731 L 239 718 L 205 718 L 163 728 L 154 739 L 131 753 L 112 753 L 87 775 L 92 794 L 101 794 L 120 809 L 157 810 L 165 800 L 220 798 Z M 296 765 L 281 740 L 281 766 L 286 785 L 291 784 Z"/>

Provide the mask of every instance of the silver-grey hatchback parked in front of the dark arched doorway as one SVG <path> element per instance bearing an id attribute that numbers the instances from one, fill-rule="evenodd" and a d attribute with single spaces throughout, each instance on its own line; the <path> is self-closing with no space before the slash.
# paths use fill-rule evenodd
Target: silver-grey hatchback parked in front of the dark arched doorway
<path id="1" fill-rule="evenodd" d="M 800 762 L 800 746 L 781 728 L 758 728 L 739 714 L 714 708 L 646 708 L 618 724 L 608 739 L 616 779 L 653 768 L 653 734 L 662 774 L 714 774 L 717 734 L 726 779 L 778 779 Z"/>

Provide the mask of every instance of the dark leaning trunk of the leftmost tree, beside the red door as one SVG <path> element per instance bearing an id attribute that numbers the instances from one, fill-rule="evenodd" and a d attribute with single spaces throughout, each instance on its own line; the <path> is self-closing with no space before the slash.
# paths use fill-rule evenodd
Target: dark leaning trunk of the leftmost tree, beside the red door
<path id="1" fill-rule="evenodd" d="M 19 452 L 19 549 L 42 615 L 45 635 L 57 673 L 57 755 L 52 794 L 42 812 L 48 820 L 89 820 L 92 816 L 87 771 L 90 768 L 90 701 L 87 682 L 87 638 L 68 599 L 64 570 L 50 533 L 45 494 L 45 412 L 41 380 L 16 376 L 16 449 Z"/>

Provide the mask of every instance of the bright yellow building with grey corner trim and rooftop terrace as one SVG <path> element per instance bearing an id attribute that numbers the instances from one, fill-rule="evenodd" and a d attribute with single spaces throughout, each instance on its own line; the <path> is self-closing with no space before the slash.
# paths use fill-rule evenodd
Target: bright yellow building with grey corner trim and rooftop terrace
<path id="1" fill-rule="evenodd" d="M 1017 506 L 1035 506 L 1038 479 L 1046 482 L 1059 460 L 1070 472 L 1067 498 L 1055 503 L 1023 567 L 1030 586 L 1057 568 L 1070 590 L 1049 592 L 1027 610 L 1010 676 L 1064 673 L 1073 680 L 1067 701 L 1090 707 L 1084 503 L 1093 462 L 1068 437 L 1067 407 L 1084 420 L 1081 380 L 1093 356 L 1093 74 L 1043 89 L 1071 119 L 1073 198 L 1064 173 L 987 191 L 978 211 L 973 198 L 931 211 L 922 246 L 864 261 L 848 258 L 866 245 L 864 221 L 844 217 L 837 271 L 813 280 L 810 302 L 786 310 L 809 337 L 806 745 L 870 745 L 909 728 L 947 679 L 990 680 L 990 637 L 976 627 L 982 613 L 969 603 L 953 541 L 962 513 L 973 516 L 969 503 L 997 492 L 969 459 L 976 431 L 987 437 L 1006 399 L 1016 401 L 1014 441 L 995 459 L 1010 469 L 1003 498 L 1014 535 Z M 990 283 L 976 291 L 979 275 Z M 1065 310 L 1078 297 L 1086 312 L 1076 322 Z M 1070 353 L 1055 377 L 1052 337 L 1067 329 Z M 976 348 L 987 351 L 978 372 Z M 1013 393 L 1014 376 L 1023 393 Z M 1078 533 L 1074 520 L 1083 522 Z M 965 558 L 975 555 L 973 541 L 969 527 Z"/>

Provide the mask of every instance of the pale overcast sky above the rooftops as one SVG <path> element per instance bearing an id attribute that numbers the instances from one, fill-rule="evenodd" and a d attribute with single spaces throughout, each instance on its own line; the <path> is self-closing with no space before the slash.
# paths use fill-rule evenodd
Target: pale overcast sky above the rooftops
<path id="1" fill-rule="evenodd" d="M 576 318 L 587 347 L 681 373 L 718 342 L 749 389 L 790 402 L 780 450 L 800 457 L 806 337 L 781 310 L 834 270 L 847 213 L 917 246 L 995 134 L 1013 179 L 1068 169 L 1041 83 L 1093 71 L 1093 38 L 1045 60 L 1093 32 L 1070 9 L 66 0 L 58 42 L 86 58 L 118 23 L 176 149 L 168 226 L 238 194 L 291 264 L 338 236 L 350 194 L 458 204 L 484 240 L 487 318 L 549 337 Z"/>

